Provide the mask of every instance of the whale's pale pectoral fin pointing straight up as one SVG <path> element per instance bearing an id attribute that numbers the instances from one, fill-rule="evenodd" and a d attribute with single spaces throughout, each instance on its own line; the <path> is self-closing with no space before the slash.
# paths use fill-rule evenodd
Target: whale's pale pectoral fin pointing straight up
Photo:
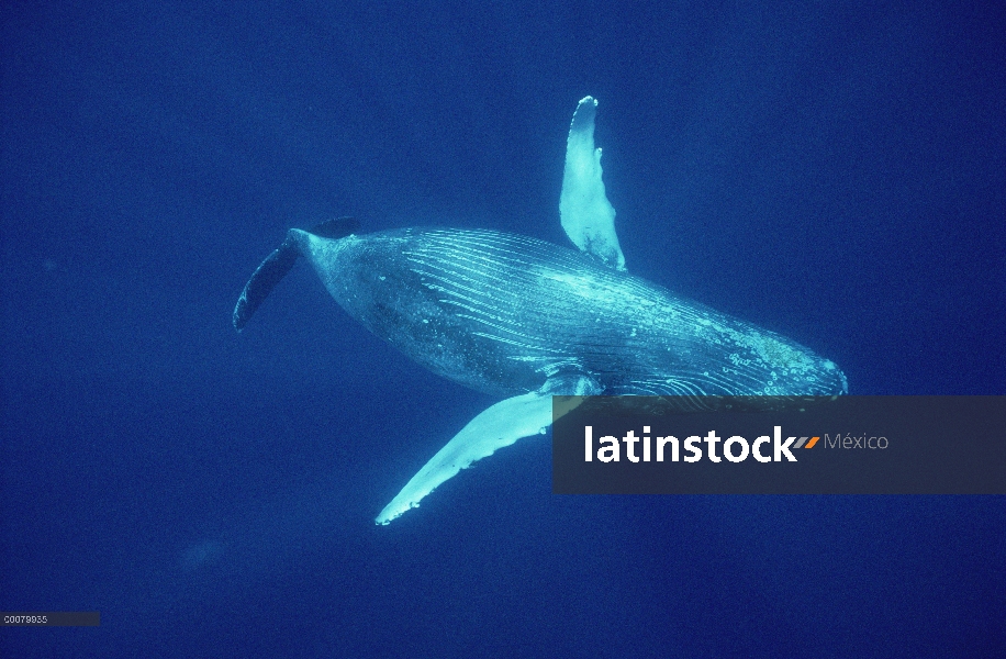
<path id="1" fill-rule="evenodd" d="M 615 234 L 615 209 L 601 180 L 601 149 L 594 148 L 597 101 L 586 97 L 577 105 L 566 143 L 566 170 L 559 215 L 566 235 L 582 252 L 616 270 L 625 270 L 625 256 Z"/>

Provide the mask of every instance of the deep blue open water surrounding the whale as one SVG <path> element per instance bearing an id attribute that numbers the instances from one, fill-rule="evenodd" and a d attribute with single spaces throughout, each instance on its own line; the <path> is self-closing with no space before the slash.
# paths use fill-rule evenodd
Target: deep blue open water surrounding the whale
<path id="1" fill-rule="evenodd" d="M 577 101 L 629 270 L 859 394 L 1006 394 L 1002 3 L 4 2 L 2 657 L 1006 656 L 1006 498 L 555 496 L 290 226 L 566 244 Z M 966 442 L 966 437 L 961 438 Z M 1006 440 L 1006 436 L 1004 436 Z"/>

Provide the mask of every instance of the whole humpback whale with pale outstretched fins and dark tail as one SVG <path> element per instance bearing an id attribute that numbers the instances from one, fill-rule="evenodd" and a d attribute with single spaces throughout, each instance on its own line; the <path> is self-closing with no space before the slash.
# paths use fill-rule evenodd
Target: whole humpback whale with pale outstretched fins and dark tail
<path id="1" fill-rule="evenodd" d="M 234 310 L 241 331 L 304 257 L 350 316 L 432 370 L 502 399 L 380 512 L 388 524 L 496 449 L 552 423 L 552 395 L 809 396 L 848 392 L 830 360 L 625 269 L 586 97 L 567 139 L 559 214 L 578 249 L 488 230 L 292 228 Z"/>

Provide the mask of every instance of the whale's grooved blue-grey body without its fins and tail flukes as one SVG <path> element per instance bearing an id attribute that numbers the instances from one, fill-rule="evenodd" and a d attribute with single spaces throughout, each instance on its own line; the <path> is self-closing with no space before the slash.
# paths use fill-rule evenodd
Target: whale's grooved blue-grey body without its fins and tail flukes
<path id="1" fill-rule="evenodd" d="M 293 230 L 349 315 L 428 368 L 513 396 L 561 375 L 605 394 L 829 395 L 809 349 L 582 253 L 496 231 Z"/>

